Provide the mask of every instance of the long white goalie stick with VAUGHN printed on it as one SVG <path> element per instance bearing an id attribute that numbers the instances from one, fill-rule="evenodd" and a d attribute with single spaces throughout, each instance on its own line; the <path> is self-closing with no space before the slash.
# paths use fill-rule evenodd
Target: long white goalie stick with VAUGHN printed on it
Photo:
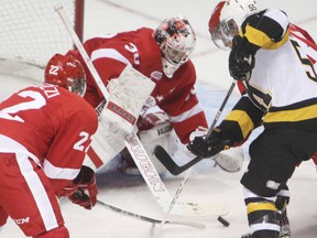
<path id="1" fill-rule="evenodd" d="M 84 48 L 80 40 L 78 39 L 76 32 L 72 28 L 64 10 L 63 6 L 57 4 L 54 7 L 54 10 L 59 14 L 63 23 L 65 24 L 69 35 L 72 36 L 74 44 L 81 54 L 88 69 L 90 71 L 96 84 L 98 85 L 100 91 L 102 93 L 106 100 L 109 98 L 106 86 L 102 84 L 102 80 L 96 71 L 94 64 L 91 63 L 90 57 L 88 56 L 86 50 Z M 129 133 L 124 137 L 124 144 L 130 151 L 131 156 L 133 158 L 138 169 L 140 170 L 146 185 L 152 192 L 155 201 L 158 205 L 166 212 L 168 205 L 173 199 L 168 194 L 167 190 L 164 186 L 158 173 L 153 166 L 151 159 L 146 154 L 140 139 L 135 133 Z M 171 214 L 173 215 L 185 215 L 185 216 L 220 216 L 227 215 L 229 213 L 229 207 L 225 202 L 216 203 L 176 203 L 174 209 Z"/>

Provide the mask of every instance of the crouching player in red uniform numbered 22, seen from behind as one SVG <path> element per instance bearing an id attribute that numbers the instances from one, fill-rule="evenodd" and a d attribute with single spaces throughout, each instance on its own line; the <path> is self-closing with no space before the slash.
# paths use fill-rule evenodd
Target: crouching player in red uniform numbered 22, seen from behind
<path id="1" fill-rule="evenodd" d="M 28 237 L 67 238 L 57 197 L 96 204 L 95 173 L 81 166 L 98 125 L 85 90 L 81 64 L 56 54 L 43 84 L 1 102 L 0 226 L 10 216 Z"/>

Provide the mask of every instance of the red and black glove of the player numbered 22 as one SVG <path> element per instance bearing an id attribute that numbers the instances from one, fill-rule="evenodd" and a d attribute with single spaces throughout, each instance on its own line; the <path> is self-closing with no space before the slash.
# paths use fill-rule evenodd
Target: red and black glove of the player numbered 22
<path id="1" fill-rule="evenodd" d="M 83 206 L 85 209 L 91 209 L 96 205 L 98 194 L 95 172 L 90 167 L 83 165 L 73 183 L 77 190 L 68 196 L 69 201 Z"/>

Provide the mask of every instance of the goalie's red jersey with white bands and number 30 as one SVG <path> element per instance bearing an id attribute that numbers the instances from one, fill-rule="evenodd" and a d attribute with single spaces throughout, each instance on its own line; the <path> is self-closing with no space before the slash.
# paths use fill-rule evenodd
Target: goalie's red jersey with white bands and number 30
<path id="1" fill-rule="evenodd" d="M 142 28 L 136 31 L 90 39 L 84 43 L 84 47 L 106 86 L 110 79 L 118 78 L 127 65 L 151 78 L 156 86 L 145 106 L 158 106 L 164 110 L 170 116 L 181 141 L 188 143 L 190 132 L 198 126 L 207 128 L 205 112 L 194 89 L 196 71 L 192 61 L 188 61 L 175 72 L 173 78 L 167 78 L 163 73 L 161 50 L 152 34 L 152 29 Z M 68 54 L 75 55 L 83 62 L 77 51 L 68 52 Z M 87 68 L 86 72 L 85 98 L 96 107 L 102 100 L 102 95 Z"/>

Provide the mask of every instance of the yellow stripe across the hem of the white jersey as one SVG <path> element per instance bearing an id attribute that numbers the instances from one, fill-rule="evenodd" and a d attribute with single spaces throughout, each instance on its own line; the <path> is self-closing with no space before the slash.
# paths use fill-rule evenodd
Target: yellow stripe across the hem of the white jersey
<path id="1" fill-rule="evenodd" d="M 294 110 L 269 112 L 264 117 L 264 122 L 295 122 L 314 118 L 317 118 L 317 105 L 311 105 Z"/>

